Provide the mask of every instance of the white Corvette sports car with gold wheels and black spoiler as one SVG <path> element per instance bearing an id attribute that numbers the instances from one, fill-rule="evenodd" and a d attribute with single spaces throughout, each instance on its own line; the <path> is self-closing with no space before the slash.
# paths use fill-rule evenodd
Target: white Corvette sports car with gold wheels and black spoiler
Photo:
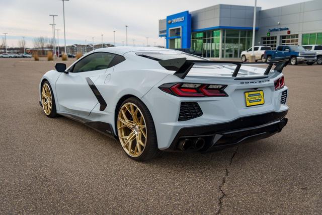
<path id="1" fill-rule="evenodd" d="M 134 160 L 208 152 L 282 130 L 288 60 L 254 67 L 263 63 L 153 47 L 96 49 L 42 77 L 40 106 L 48 117 L 63 115 L 119 139 Z"/>

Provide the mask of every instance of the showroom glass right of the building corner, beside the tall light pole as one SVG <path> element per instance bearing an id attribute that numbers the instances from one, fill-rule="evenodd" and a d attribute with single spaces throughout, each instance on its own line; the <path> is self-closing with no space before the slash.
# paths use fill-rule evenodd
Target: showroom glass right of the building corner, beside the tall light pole
<path id="1" fill-rule="evenodd" d="M 240 53 L 252 46 L 252 31 L 222 30 L 222 57 L 239 58 Z"/>

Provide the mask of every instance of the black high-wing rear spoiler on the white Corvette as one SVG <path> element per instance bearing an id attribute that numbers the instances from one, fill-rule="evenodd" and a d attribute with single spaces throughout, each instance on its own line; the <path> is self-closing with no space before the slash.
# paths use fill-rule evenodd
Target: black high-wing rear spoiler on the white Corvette
<path id="1" fill-rule="evenodd" d="M 176 72 L 173 74 L 175 76 L 178 76 L 181 79 L 184 79 L 190 69 L 193 67 L 193 65 L 202 65 L 202 64 L 233 64 L 236 65 L 236 68 L 234 69 L 231 77 L 237 77 L 238 71 L 240 69 L 241 65 L 256 65 L 256 64 L 268 64 L 268 67 L 265 70 L 264 75 L 268 75 L 269 72 L 272 69 L 272 66 L 275 65 L 274 70 L 278 71 L 279 73 L 282 73 L 283 68 L 288 64 L 289 57 L 283 57 L 283 58 L 275 58 L 271 59 L 269 62 L 254 62 L 254 63 L 248 63 L 248 62 L 237 62 L 237 61 L 216 61 L 216 60 L 187 60 L 187 58 L 175 58 L 175 59 L 169 59 L 169 60 L 160 60 L 159 63 L 164 68 L 168 70 L 175 70 Z"/>

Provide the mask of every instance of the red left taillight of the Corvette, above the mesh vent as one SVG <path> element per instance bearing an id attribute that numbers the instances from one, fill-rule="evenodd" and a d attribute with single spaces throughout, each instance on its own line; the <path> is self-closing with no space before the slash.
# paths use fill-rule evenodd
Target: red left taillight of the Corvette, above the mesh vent
<path id="1" fill-rule="evenodd" d="M 180 97 L 220 97 L 228 96 L 224 89 L 227 85 L 170 83 L 159 86 L 159 89 Z"/>

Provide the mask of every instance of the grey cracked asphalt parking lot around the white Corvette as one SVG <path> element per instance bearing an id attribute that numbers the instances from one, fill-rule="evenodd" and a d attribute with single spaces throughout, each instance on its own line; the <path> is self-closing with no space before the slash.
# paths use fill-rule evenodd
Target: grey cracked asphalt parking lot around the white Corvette
<path id="1" fill-rule="evenodd" d="M 72 61 L 68 61 L 70 64 Z M 288 124 L 209 154 L 130 160 L 38 103 L 52 61 L 0 59 L 0 213 L 320 213 L 322 66 L 288 65 Z"/>

